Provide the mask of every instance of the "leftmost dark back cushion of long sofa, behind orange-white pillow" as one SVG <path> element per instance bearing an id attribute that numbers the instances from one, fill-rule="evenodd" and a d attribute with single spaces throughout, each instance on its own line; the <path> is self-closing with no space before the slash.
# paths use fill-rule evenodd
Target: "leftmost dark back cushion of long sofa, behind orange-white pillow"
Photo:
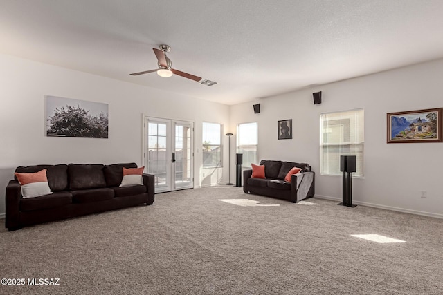
<path id="1" fill-rule="evenodd" d="M 15 169 L 17 173 L 35 173 L 46 170 L 46 177 L 51 191 L 64 191 L 68 187 L 68 165 L 35 165 L 35 166 L 18 166 Z M 15 178 L 17 180 L 17 178 Z"/>

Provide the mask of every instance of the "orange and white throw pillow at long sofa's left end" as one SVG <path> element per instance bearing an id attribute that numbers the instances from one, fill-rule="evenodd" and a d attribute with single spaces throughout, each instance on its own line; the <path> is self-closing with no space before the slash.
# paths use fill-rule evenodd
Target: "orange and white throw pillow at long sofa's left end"
<path id="1" fill-rule="evenodd" d="M 48 178 L 46 178 L 46 169 L 35 173 L 15 172 L 14 175 L 19 180 L 21 196 L 23 198 L 35 198 L 52 193 L 49 188 Z"/>

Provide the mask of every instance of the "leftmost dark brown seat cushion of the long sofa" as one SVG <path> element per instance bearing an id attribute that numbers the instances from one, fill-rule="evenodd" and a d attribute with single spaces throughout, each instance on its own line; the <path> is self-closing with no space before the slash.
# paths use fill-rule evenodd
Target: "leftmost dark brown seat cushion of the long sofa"
<path id="1" fill-rule="evenodd" d="M 21 199 L 21 211 L 34 211 L 65 206 L 72 203 L 72 195 L 69 191 L 56 191 L 51 195 L 35 198 Z"/>

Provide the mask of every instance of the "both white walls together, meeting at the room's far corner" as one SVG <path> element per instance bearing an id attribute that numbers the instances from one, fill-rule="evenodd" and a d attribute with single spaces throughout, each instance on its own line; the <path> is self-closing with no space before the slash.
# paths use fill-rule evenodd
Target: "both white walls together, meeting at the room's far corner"
<path id="1" fill-rule="evenodd" d="M 142 113 L 195 122 L 196 187 L 226 182 L 228 175 L 228 149 L 223 171 L 201 169 L 201 122 L 224 124 L 224 133 L 236 133 L 237 123 L 258 122 L 259 159 L 308 162 L 316 172 L 316 196 L 340 200 L 341 178 L 319 175 L 319 116 L 364 108 L 365 178 L 354 178 L 354 202 L 443 218 L 443 144 L 386 144 L 386 113 L 443 107 L 443 59 L 235 106 L 8 55 L 0 55 L 0 64 L 0 215 L 16 166 L 143 165 Z M 323 91 L 322 104 L 312 102 L 316 91 Z M 109 139 L 46 137 L 44 95 L 109 104 Z M 261 113 L 255 115 L 257 103 Z M 293 120 L 293 139 L 277 140 L 277 121 L 285 119 Z M 235 136 L 231 138 L 231 182 L 235 182 L 234 157 Z M 420 198 L 421 191 L 427 191 L 428 197 Z"/>

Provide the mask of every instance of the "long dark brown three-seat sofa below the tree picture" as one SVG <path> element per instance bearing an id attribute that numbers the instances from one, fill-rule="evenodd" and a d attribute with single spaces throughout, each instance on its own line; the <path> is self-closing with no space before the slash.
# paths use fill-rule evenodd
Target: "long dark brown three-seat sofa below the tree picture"
<path id="1" fill-rule="evenodd" d="M 154 202 L 154 175 L 143 174 L 143 185 L 119 187 L 127 164 L 58 164 L 19 166 L 17 173 L 46 170 L 51 194 L 22 198 L 17 178 L 6 187 L 6 228 L 109 211 Z"/>

